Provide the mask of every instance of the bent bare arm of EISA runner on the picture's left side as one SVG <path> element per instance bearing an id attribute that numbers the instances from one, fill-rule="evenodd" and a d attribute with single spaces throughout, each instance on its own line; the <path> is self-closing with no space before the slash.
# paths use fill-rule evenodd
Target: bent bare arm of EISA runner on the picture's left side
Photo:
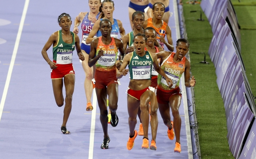
<path id="1" fill-rule="evenodd" d="M 55 62 L 52 62 L 47 54 L 47 50 L 53 45 L 55 46 L 57 44 L 58 40 L 58 31 L 54 32 L 50 38 L 48 39 L 48 41 L 46 42 L 46 44 L 44 45 L 44 48 L 42 49 L 42 56 L 44 58 L 44 60 L 46 60 L 46 62 L 50 65 L 51 69 L 56 69 L 58 66 L 56 66 Z"/>

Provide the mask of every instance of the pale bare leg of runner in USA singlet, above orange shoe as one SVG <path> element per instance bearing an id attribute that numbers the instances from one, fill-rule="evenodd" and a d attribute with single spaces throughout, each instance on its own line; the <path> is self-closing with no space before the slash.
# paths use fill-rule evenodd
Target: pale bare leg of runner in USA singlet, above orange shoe
<path id="1" fill-rule="evenodd" d="M 82 61 L 82 66 L 85 72 L 85 79 L 84 79 L 84 91 L 85 91 L 85 96 L 86 96 L 86 103 L 92 103 L 91 98 L 92 98 L 92 78 L 93 78 L 93 67 L 88 66 L 88 58 L 89 55 L 86 54 L 84 50 L 81 50 L 83 55 L 84 55 L 84 61 Z"/>

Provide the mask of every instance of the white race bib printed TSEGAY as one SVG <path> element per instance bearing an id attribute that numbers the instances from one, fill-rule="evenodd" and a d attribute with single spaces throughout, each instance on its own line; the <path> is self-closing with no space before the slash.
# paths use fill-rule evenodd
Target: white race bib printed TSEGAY
<path id="1" fill-rule="evenodd" d="M 150 69 L 150 66 L 133 66 L 132 79 L 149 79 Z"/>

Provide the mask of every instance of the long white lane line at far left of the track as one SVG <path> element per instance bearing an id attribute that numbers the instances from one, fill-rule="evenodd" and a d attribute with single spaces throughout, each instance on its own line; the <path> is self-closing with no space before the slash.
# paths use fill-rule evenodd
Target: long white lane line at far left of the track
<path id="1" fill-rule="evenodd" d="M 20 26 L 19 26 L 19 29 L 18 29 L 18 34 L 17 34 L 17 37 L 16 37 L 14 49 L 13 49 L 13 52 L 12 52 L 12 59 L 11 59 L 11 62 L 10 62 L 6 82 L 5 82 L 5 85 L 4 85 L 4 92 L 3 92 L 1 103 L 0 103 L 0 121 L 1 121 L 2 113 L 3 113 L 3 109 L 4 109 L 4 103 L 5 103 L 5 99 L 6 99 L 6 96 L 7 96 L 11 76 L 12 76 L 12 70 L 13 70 L 14 62 L 15 62 L 16 55 L 17 55 L 17 52 L 18 52 L 18 47 L 19 47 L 19 44 L 20 44 L 20 37 L 21 37 L 21 34 L 22 34 L 26 14 L 27 14 L 27 11 L 28 11 L 28 4 L 29 4 L 29 0 L 26 0 L 25 4 L 24 4 L 22 16 L 21 16 L 21 19 L 20 19 Z"/>

